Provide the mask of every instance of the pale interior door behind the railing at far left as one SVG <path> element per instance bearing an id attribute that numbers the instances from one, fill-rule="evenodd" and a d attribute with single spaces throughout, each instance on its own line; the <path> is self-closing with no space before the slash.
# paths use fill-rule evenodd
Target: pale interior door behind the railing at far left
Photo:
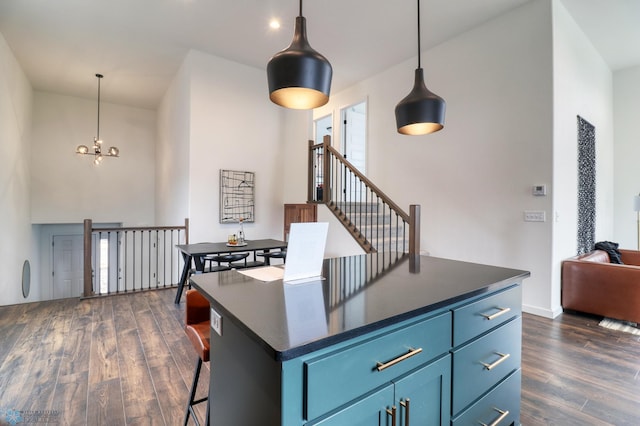
<path id="1" fill-rule="evenodd" d="M 80 297 L 83 284 L 83 236 L 53 236 L 53 299 Z"/>

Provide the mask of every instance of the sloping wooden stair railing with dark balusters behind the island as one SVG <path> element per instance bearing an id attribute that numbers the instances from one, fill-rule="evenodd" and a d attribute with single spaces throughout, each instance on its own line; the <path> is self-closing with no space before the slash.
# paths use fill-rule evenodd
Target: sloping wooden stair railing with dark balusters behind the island
<path id="1" fill-rule="evenodd" d="M 367 252 L 420 253 L 420 206 L 409 213 L 331 146 L 309 141 L 307 201 L 325 204 Z"/>

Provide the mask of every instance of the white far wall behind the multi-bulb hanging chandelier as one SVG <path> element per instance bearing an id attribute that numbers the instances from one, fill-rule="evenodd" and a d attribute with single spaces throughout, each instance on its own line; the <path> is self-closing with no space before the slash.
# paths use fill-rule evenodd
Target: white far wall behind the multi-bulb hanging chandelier
<path id="1" fill-rule="evenodd" d="M 154 224 L 155 111 L 101 102 L 100 138 L 117 146 L 120 158 L 99 167 L 75 154 L 77 145 L 93 144 L 96 114 L 95 99 L 35 92 L 33 223 Z"/>

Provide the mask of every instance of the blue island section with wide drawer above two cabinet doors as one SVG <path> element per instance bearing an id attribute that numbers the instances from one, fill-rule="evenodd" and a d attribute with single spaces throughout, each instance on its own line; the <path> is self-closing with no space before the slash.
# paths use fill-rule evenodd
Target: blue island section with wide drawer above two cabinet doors
<path id="1" fill-rule="evenodd" d="M 305 424 L 448 425 L 450 336 L 445 312 L 303 362 Z"/>

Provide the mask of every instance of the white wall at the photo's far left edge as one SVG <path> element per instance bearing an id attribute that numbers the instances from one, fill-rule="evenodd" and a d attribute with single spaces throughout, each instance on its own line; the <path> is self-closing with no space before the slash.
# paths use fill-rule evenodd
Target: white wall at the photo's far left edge
<path id="1" fill-rule="evenodd" d="M 22 265 L 32 254 L 30 153 L 33 91 L 4 37 L 0 34 L 0 305 L 38 300 L 32 290 L 22 297 Z"/>

